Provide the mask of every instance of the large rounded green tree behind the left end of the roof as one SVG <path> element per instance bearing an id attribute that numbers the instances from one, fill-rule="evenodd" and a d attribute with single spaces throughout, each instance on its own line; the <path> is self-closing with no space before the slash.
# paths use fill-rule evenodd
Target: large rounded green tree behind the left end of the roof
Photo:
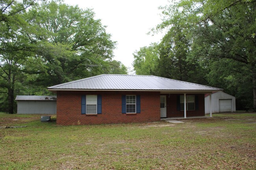
<path id="1" fill-rule="evenodd" d="M 83 10 L 62 1 L 35 5 L 28 11 L 27 22 L 37 26 L 30 37 L 40 41 L 42 47 L 36 57 L 46 66 L 38 80 L 47 80 L 45 85 L 49 86 L 89 77 L 91 65 L 98 66 L 95 72 L 108 70 L 115 42 L 94 15 L 91 9 Z"/>

